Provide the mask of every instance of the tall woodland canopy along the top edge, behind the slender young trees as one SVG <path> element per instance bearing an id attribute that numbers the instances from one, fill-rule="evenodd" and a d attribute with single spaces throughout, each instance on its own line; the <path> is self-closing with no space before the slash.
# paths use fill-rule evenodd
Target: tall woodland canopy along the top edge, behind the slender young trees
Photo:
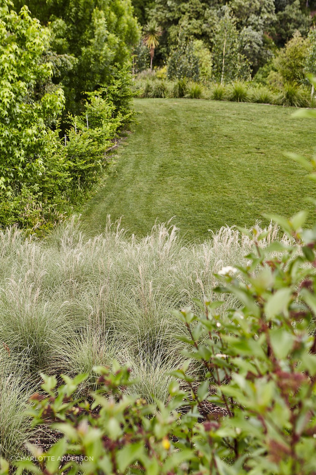
<path id="1" fill-rule="evenodd" d="M 238 53 L 251 66 L 252 75 L 284 47 L 295 31 L 307 36 L 310 11 L 316 1 L 300 0 L 133 0 L 141 25 L 156 19 L 163 29 L 157 48 L 156 64 L 167 63 L 177 48 L 179 35 L 202 40 L 204 46 L 218 50 L 218 25 L 227 5 L 238 37 Z M 307 5 L 307 6 L 306 6 Z M 213 55 L 215 56 L 215 55 Z"/>

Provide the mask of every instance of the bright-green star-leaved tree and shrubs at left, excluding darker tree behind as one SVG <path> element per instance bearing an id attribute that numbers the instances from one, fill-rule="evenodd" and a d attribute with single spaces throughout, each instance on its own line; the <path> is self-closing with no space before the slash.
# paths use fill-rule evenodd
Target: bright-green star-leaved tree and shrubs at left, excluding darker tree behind
<path id="1" fill-rule="evenodd" d="M 107 147 L 131 120 L 131 77 L 128 66 L 114 65 L 110 84 L 87 93 L 82 113 L 67 118 L 77 131 L 64 121 L 61 141 L 65 96 L 51 76 L 57 66 L 56 74 L 70 74 L 74 63 L 51 50 L 50 31 L 27 7 L 17 14 L 12 6 L 0 6 L 0 225 L 46 229 L 83 201 L 108 163 Z"/>

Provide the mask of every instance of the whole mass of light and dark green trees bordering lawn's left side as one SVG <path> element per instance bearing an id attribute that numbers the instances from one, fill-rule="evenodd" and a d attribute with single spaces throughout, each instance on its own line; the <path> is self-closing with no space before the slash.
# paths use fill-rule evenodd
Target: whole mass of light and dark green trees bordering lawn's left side
<path id="1" fill-rule="evenodd" d="M 139 26 L 129 0 L 28 7 L 0 1 L 0 224 L 44 229 L 84 198 L 130 121 Z"/>

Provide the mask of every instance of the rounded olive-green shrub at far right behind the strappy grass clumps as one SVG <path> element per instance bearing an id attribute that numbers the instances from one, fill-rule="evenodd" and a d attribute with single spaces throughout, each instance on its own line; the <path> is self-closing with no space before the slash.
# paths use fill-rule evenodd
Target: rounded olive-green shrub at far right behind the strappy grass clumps
<path id="1" fill-rule="evenodd" d="M 279 52 L 274 63 L 278 73 L 286 82 L 305 82 L 305 65 L 309 40 L 297 31 Z"/>

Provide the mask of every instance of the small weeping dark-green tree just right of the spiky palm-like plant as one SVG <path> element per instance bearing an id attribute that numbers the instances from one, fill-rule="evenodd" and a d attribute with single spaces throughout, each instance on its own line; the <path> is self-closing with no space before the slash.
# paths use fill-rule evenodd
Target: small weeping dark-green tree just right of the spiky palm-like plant
<path id="1" fill-rule="evenodd" d="M 183 35 L 180 35 L 177 48 L 169 56 L 167 75 L 168 79 L 199 79 L 199 58 L 195 54 L 193 42 L 186 41 Z"/>

